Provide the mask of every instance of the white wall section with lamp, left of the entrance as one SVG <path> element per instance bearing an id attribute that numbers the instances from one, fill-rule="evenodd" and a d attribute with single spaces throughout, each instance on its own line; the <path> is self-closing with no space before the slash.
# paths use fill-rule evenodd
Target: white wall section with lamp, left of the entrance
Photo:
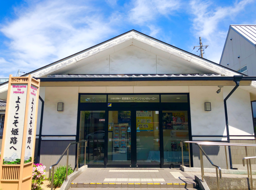
<path id="1" fill-rule="evenodd" d="M 76 135 L 78 92 L 79 87 L 45 88 L 42 135 Z M 57 111 L 58 102 L 64 103 L 64 111 Z"/>

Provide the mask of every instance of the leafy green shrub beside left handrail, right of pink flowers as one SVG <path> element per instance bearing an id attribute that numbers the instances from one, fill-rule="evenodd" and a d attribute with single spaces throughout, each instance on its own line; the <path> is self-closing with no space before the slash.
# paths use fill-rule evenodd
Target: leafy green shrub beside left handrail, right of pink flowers
<path id="1" fill-rule="evenodd" d="M 67 169 L 67 175 L 70 175 L 71 173 L 73 173 L 73 169 L 69 165 Z M 54 170 L 53 179 L 53 187 L 61 187 L 62 183 L 66 179 L 66 166 L 60 166 Z M 51 177 L 49 177 L 49 181 L 51 182 Z"/>

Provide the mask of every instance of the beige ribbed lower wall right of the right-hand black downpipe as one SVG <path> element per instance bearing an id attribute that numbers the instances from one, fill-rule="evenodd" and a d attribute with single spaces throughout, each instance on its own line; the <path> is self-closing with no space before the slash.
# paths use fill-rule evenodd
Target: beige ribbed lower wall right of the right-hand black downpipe
<path id="1" fill-rule="evenodd" d="M 230 143 L 256 144 L 255 140 L 231 140 Z M 245 156 L 245 147 L 231 146 L 232 164 L 243 164 Z M 247 147 L 248 156 L 256 156 L 255 147 Z M 256 159 L 251 159 L 251 164 L 256 164 Z"/>

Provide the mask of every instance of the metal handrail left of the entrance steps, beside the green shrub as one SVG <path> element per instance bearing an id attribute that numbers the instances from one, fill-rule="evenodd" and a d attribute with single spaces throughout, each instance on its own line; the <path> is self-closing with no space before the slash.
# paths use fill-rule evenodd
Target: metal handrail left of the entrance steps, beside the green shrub
<path id="1" fill-rule="evenodd" d="M 76 171 L 78 171 L 78 152 L 79 152 L 79 143 L 85 143 L 85 156 L 86 156 L 86 147 L 87 147 L 87 141 L 88 140 L 82 140 L 79 142 L 74 142 L 74 143 L 69 143 L 69 145 L 67 146 L 67 148 L 65 149 L 65 151 L 62 153 L 61 157 L 59 158 L 59 160 L 56 162 L 56 164 L 53 164 L 50 166 L 49 168 L 49 178 L 51 176 L 51 190 L 53 190 L 53 180 L 54 180 L 54 166 L 59 164 L 59 161 L 61 161 L 62 157 L 64 156 L 64 154 L 67 152 L 67 165 L 66 165 L 66 179 L 65 181 L 67 181 L 67 172 L 68 172 L 68 164 L 69 164 L 69 147 L 72 144 L 77 144 L 77 169 Z M 80 145 L 81 147 L 81 145 Z M 86 157 L 85 157 L 86 158 Z M 53 172 L 51 172 L 53 171 Z"/>

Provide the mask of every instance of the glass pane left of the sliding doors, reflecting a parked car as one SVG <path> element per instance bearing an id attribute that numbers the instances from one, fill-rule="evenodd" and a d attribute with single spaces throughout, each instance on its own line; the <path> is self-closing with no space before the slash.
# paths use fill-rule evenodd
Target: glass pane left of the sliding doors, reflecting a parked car
<path id="1" fill-rule="evenodd" d="M 104 164 L 105 111 L 81 111 L 80 139 L 88 140 L 86 164 Z M 102 121 L 104 119 L 104 121 Z M 81 144 L 78 163 L 84 164 L 84 143 Z"/>

